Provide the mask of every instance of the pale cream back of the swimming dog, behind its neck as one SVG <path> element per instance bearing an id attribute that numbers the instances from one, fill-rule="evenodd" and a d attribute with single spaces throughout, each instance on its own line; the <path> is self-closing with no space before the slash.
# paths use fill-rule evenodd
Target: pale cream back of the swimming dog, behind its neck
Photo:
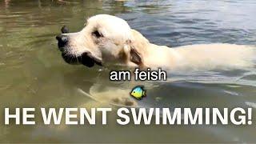
<path id="1" fill-rule="evenodd" d="M 256 48 L 234 44 L 202 44 L 174 48 L 176 69 L 242 69 L 254 66 Z M 175 69 L 175 68 L 174 68 Z"/>

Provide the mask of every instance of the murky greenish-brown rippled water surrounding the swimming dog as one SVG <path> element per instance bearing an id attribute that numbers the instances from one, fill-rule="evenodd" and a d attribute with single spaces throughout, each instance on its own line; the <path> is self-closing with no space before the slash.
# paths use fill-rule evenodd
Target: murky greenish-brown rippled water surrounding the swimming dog
<path id="1" fill-rule="evenodd" d="M 256 45 L 254 0 L 1 1 L 1 142 L 256 142 L 255 125 L 118 126 L 114 116 L 107 126 L 4 126 L 4 107 L 109 107 L 107 98 L 125 95 L 141 84 L 110 82 L 105 68 L 71 66 L 62 60 L 55 40 L 61 26 L 81 30 L 86 18 L 95 14 L 124 18 L 158 45 Z M 138 106 L 256 105 L 255 69 L 173 74 L 167 82 L 143 84 L 148 98 Z"/>

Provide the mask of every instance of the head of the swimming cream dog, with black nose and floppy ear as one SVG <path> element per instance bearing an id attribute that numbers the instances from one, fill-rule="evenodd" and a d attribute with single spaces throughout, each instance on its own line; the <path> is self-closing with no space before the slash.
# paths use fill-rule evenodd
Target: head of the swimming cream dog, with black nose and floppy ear
<path id="1" fill-rule="evenodd" d="M 62 27 L 58 35 L 58 48 L 68 63 L 85 66 L 128 65 L 141 66 L 142 46 L 148 41 L 126 21 L 107 14 L 99 14 L 87 20 L 77 33 L 68 33 Z"/>

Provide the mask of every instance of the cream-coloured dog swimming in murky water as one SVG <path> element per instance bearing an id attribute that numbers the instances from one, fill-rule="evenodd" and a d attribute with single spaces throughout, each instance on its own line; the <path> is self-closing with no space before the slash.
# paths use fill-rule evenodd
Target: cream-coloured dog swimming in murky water
<path id="1" fill-rule="evenodd" d="M 150 43 L 122 18 L 98 14 L 77 33 L 66 27 L 58 48 L 70 64 L 127 66 L 165 70 L 215 70 L 254 67 L 254 46 L 215 43 L 170 48 Z"/>

